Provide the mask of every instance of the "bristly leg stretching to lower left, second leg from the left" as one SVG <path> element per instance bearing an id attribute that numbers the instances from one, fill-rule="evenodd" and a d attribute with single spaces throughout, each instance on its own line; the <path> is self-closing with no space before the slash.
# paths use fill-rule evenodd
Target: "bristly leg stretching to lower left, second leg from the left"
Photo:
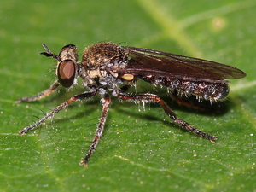
<path id="1" fill-rule="evenodd" d="M 82 101 L 84 99 L 90 98 L 91 96 L 95 96 L 97 92 L 85 92 L 83 94 L 79 94 L 76 96 L 72 96 L 66 102 L 61 103 L 58 107 L 56 107 L 52 112 L 46 113 L 46 115 L 39 119 L 35 124 L 27 126 L 23 130 L 20 130 L 20 135 L 23 135 L 29 130 L 36 128 L 38 125 L 44 123 L 45 120 L 52 118 L 56 113 L 59 113 L 63 108 L 66 108 L 71 102 Z"/>

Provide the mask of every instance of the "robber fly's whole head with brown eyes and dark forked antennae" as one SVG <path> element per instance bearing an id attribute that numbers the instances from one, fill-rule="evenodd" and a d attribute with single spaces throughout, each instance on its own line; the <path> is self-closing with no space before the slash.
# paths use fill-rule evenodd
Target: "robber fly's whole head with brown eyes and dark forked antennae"
<path id="1" fill-rule="evenodd" d="M 78 53 L 77 47 L 73 44 L 67 44 L 64 46 L 59 55 L 52 53 L 49 48 L 43 44 L 46 52 L 42 55 L 55 58 L 57 62 L 56 75 L 60 84 L 63 87 L 71 87 L 75 82 L 77 65 L 78 65 Z"/>

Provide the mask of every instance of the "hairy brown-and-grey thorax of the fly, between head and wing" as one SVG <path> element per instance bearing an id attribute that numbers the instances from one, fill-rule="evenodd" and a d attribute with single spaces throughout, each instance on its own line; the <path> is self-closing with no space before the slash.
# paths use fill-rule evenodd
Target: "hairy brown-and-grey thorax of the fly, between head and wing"
<path id="1" fill-rule="evenodd" d="M 120 84 L 116 68 L 124 68 L 128 63 L 128 53 L 119 44 L 99 43 L 84 49 L 81 66 L 86 75 L 82 75 L 85 84 Z M 81 75 L 80 75 L 81 76 Z"/>

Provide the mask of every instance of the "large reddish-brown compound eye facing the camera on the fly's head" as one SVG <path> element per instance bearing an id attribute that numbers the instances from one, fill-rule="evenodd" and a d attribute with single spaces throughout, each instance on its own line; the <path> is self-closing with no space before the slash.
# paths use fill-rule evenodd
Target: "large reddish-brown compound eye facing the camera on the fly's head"
<path id="1" fill-rule="evenodd" d="M 70 87 L 75 78 L 75 64 L 71 60 L 61 61 L 58 66 L 58 78 L 63 87 Z"/>

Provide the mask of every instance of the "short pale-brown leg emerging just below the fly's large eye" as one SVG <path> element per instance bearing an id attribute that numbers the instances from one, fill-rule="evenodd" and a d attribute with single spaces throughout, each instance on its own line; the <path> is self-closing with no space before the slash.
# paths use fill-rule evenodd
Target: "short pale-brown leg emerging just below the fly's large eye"
<path id="1" fill-rule="evenodd" d="M 36 96 L 26 96 L 20 99 L 17 99 L 16 102 L 33 102 L 40 99 L 43 99 L 45 96 L 49 96 L 53 92 L 55 92 L 56 88 L 60 85 L 59 81 L 56 80 L 54 84 L 51 84 L 49 89 L 43 90 L 42 92 L 38 93 Z"/>

